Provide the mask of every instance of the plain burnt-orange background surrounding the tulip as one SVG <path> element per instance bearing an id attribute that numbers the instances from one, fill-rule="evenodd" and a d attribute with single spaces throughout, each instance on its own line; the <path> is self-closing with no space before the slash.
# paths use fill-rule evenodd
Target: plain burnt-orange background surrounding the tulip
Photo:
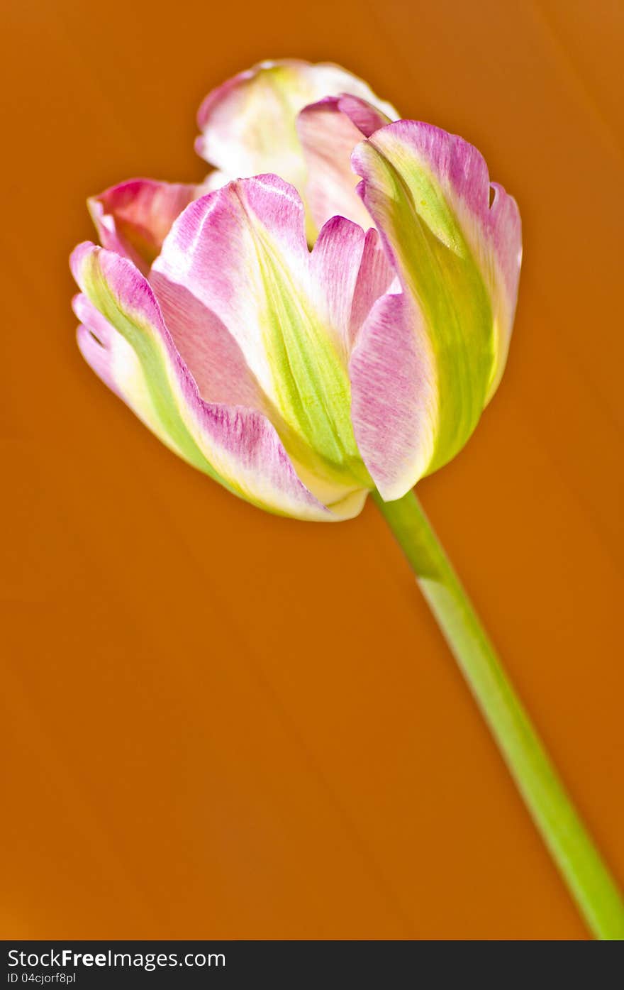
<path id="1" fill-rule="evenodd" d="M 622 100 L 612 0 L 5 0 L 5 938 L 583 939 L 373 505 L 262 515 L 82 362 L 84 199 L 196 181 L 194 113 L 333 59 L 523 215 L 507 372 L 422 501 L 624 882 Z M 5 363 L 6 367 L 6 363 Z"/>

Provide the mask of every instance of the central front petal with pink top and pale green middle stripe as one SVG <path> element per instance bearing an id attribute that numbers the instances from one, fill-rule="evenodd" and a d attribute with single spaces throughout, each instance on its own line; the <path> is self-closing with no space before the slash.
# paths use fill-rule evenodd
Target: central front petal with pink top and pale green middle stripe
<path id="1" fill-rule="evenodd" d="M 367 302 L 392 277 L 372 239 L 347 220 L 327 225 L 311 254 L 301 200 L 275 175 L 232 182 L 189 206 L 152 272 L 160 296 L 190 294 L 229 331 L 323 501 L 331 486 L 370 487 L 347 360 Z"/>

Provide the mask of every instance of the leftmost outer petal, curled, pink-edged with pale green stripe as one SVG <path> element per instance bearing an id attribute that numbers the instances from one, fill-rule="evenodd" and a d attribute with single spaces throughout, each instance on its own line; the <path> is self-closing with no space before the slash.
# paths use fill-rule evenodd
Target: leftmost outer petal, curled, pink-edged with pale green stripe
<path id="1" fill-rule="evenodd" d="M 363 498 L 330 512 L 312 496 L 261 413 L 201 399 L 132 262 L 84 244 L 74 250 L 71 265 L 88 297 L 77 304 L 85 320 L 82 352 L 164 443 L 260 508 L 323 521 L 357 514 Z"/>

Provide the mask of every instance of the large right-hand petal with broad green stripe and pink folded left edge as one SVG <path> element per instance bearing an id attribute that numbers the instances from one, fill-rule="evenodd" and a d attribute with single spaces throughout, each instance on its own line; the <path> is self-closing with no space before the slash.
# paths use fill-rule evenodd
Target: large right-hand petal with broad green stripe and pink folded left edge
<path id="1" fill-rule="evenodd" d="M 400 307 L 388 304 L 394 330 L 380 307 L 379 326 L 372 316 L 368 334 L 361 334 L 372 347 L 372 370 L 362 364 L 364 350 L 358 360 L 354 355 L 352 374 L 362 377 L 353 384 L 354 425 L 380 490 L 398 498 L 464 446 L 495 389 L 515 308 L 520 222 L 515 202 L 499 187 L 490 207 L 480 152 L 427 124 L 381 128 L 358 145 L 352 162 L 404 294 Z M 398 366 L 382 374 L 384 364 L 393 367 L 393 353 Z M 393 381 L 403 367 L 410 371 L 398 388 Z M 401 439 L 388 459 L 384 408 Z M 411 426 L 402 429 L 406 423 Z"/>

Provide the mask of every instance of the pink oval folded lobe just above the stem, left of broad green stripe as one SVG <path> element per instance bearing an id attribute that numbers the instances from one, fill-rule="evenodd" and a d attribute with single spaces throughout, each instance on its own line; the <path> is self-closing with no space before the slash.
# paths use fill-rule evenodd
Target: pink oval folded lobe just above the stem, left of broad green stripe
<path id="1" fill-rule="evenodd" d="M 386 295 L 351 356 L 355 436 L 386 501 L 401 498 L 425 472 L 434 444 L 435 372 L 419 322 L 406 296 Z"/>

